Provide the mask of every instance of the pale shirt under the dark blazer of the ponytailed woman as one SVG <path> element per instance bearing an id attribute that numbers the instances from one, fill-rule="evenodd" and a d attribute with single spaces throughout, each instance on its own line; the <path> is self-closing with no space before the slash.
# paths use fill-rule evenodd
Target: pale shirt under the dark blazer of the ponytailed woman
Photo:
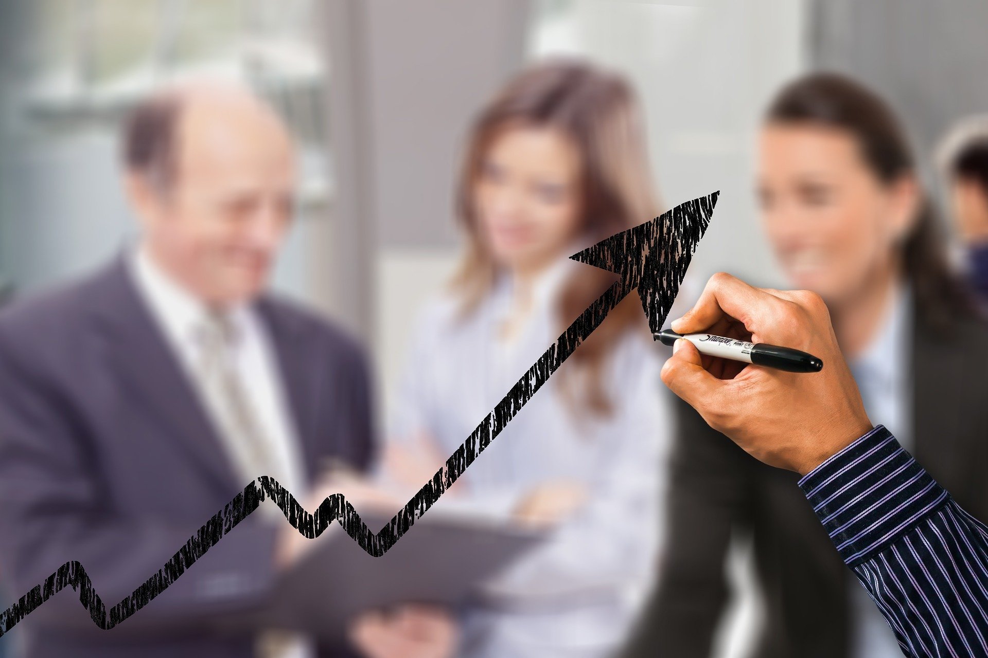
<path id="1" fill-rule="evenodd" d="M 895 291 L 881 328 L 864 353 L 850 366 L 864 400 L 864 409 L 874 423 L 885 425 L 906 450 L 912 449 L 912 378 L 909 372 L 912 347 L 912 295 L 907 286 Z M 900 658 L 902 649 L 888 621 L 878 611 L 858 579 L 850 578 L 848 595 L 854 634 L 853 658 Z"/>

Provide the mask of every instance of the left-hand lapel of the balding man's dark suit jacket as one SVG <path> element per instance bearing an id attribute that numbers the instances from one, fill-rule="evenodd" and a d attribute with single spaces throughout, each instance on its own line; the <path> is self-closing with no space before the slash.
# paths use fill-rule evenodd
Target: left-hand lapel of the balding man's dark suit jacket
<path id="1" fill-rule="evenodd" d="M 124 256 L 112 265 L 106 291 L 95 311 L 111 340 L 113 367 L 127 390 L 171 428 L 171 436 L 197 470 L 224 490 L 242 487 L 246 482 L 234 475 L 192 383 L 140 299 Z"/>

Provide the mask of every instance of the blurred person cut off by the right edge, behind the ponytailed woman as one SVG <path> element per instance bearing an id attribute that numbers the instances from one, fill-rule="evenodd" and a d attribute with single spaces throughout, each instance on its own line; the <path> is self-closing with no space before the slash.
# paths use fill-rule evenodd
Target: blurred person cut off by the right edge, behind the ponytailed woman
<path id="1" fill-rule="evenodd" d="M 939 161 L 971 285 L 981 303 L 988 305 L 988 114 L 955 125 L 944 140 Z"/>

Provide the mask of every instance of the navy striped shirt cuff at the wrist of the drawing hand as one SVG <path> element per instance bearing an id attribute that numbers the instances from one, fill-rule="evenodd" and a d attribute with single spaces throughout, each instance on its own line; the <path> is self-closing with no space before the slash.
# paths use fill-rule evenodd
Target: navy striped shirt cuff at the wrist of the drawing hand
<path id="1" fill-rule="evenodd" d="M 912 530 L 948 495 L 892 433 L 878 425 L 799 480 L 849 566 Z"/>

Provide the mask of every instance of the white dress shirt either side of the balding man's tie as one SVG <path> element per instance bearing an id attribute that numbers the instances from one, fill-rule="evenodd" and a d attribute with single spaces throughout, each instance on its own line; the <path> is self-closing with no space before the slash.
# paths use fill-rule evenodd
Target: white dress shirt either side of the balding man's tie
<path id="1" fill-rule="evenodd" d="M 297 495 L 308 484 L 304 475 L 301 448 L 288 415 L 288 398 L 282 385 L 275 351 L 260 318 L 247 305 L 228 310 L 229 321 L 237 336 L 231 366 L 237 370 L 254 420 L 260 425 L 259 434 L 267 444 L 266 452 L 275 457 L 267 473 L 248 473 L 247 467 L 242 466 L 244 462 L 236 437 L 227 436 L 222 430 L 223 410 L 217 407 L 213 398 L 206 395 L 197 374 L 203 357 L 198 331 L 206 322 L 206 304 L 163 271 L 145 247 L 138 247 L 129 256 L 129 271 L 138 294 L 148 306 L 172 353 L 193 384 L 193 390 L 206 411 L 207 419 L 217 438 L 223 443 L 230 463 L 243 485 L 246 486 L 258 475 L 272 475 Z M 265 505 L 259 513 L 266 511 L 271 513 L 269 518 L 274 523 L 286 523 L 281 511 L 275 506 Z M 280 639 L 277 655 L 278 658 L 310 658 L 315 652 L 307 638 L 290 636 Z"/>

